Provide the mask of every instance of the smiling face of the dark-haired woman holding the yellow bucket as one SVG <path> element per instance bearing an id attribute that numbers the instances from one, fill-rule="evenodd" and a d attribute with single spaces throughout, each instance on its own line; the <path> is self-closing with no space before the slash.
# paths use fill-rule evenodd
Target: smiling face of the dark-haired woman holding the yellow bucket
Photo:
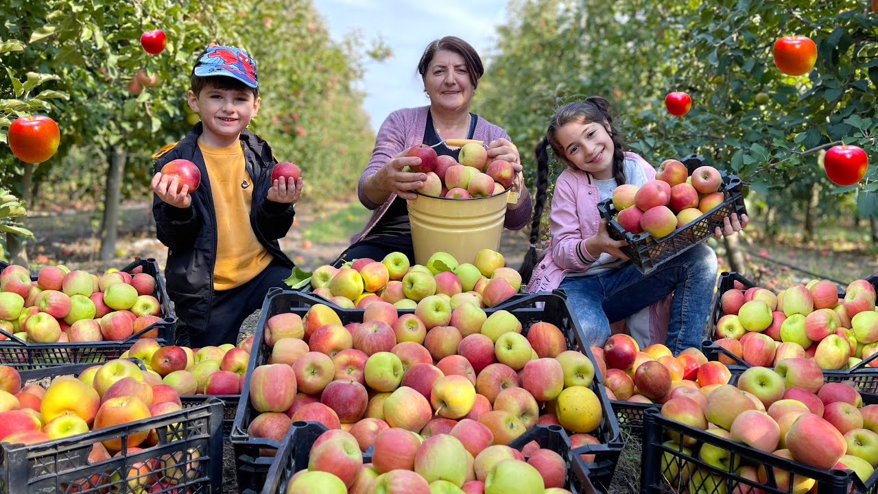
<path id="1" fill-rule="evenodd" d="M 423 80 L 430 105 L 448 111 L 469 110 L 473 87 L 470 71 L 460 54 L 448 50 L 437 51 Z"/>

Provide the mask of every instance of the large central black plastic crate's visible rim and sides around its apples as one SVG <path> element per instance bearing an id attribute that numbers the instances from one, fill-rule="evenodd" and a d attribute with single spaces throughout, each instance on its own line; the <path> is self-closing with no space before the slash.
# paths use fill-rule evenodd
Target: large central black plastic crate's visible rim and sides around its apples
<path id="1" fill-rule="evenodd" d="M 256 323 L 254 348 L 250 353 L 248 362 L 247 378 L 241 390 L 241 403 L 235 413 L 234 425 L 230 438 L 234 447 L 235 460 L 238 470 L 238 487 L 241 492 L 245 490 L 257 491 L 262 488 L 271 464 L 271 458 L 260 456 L 260 449 L 276 449 L 280 444 L 274 440 L 263 438 L 251 438 L 248 436 L 247 427 L 257 414 L 250 405 L 249 399 L 249 376 L 255 367 L 268 363 L 270 354 L 269 347 L 264 343 L 264 327 L 271 316 L 284 312 L 293 312 L 304 316 L 311 306 L 323 303 L 323 299 L 313 294 L 295 292 L 289 290 L 272 289 L 266 296 L 259 322 Z M 553 323 L 564 332 L 567 340 L 567 348 L 584 352 L 594 363 L 594 355 L 583 343 L 582 331 L 579 323 L 570 309 L 567 307 L 564 292 L 527 294 L 510 300 L 494 308 L 485 309 L 488 315 L 496 310 L 507 310 L 515 315 L 522 323 L 522 334 L 527 334 L 531 323 L 545 321 Z M 359 323 L 363 321 L 363 309 L 335 309 L 342 320 L 342 324 Z M 257 345 L 258 344 L 258 345 Z M 594 464 L 590 465 L 590 472 L 596 479 L 595 483 L 605 482 L 609 485 L 615 471 L 615 463 L 618 460 L 624 444 L 619 425 L 609 405 L 606 391 L 599 384 L 602 376 L 597 366 L 594 366 L 595 377 L 591 389 L 601 399 L 603 417 L 598 429 L 593 435 L 601 440 L 601 445 L 587 445 L 579 448 L 579 453 L 594 453 Z M 600 481 L 600 482 L 598 482 Z"/>

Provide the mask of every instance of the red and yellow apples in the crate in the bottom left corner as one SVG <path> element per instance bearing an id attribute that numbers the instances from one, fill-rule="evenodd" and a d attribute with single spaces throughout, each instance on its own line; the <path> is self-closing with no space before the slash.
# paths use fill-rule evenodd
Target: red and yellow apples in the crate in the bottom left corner
<path id="1" fill-rule="evenodd" d="M 183 410 L 178 389 L 163 383 L 157 374 L 140 370 L 131 360 L 89 367 L 78 377 L 60 375 L 46 389 L 22 384 L 14 368 L 0 366 L 0 442 L 38 444 Z M 159 435 L 155 429 L 133 432 L 126 436 L 126 444 L 126 453 L 134 454 L 159 444 Z M 121 449 L 121 438 L 96 442 L 88 461 L 118 456 Z M 78 479 L 71 487 L 97 491 L 109 487 L 104 483 L 127 483 L 126 491 L 165 491 L 204 475 L 198 468 L 200 461 L 193 461 L 200 455 L 197 447 L 185 454 L 157 454 L 132 462 L 127 471 Z"/>

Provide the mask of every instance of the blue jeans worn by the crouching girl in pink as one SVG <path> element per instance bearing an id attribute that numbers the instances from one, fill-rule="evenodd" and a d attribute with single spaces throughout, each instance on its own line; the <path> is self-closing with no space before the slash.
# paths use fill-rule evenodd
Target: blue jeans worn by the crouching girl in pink
<path id="1" fill-rule="evenodd" d="M 609 323 L 624 319 L 673 293 L 665 345 L 679 354 L 701 349 L 702 331 L 716 286 L 716 253 L 699 244 L 643 274 L 633 264 L 594 276 L 565 278 L 558 287 L 579 320 L 587 345 L 603 346 Z M 659 343 L 659 342 L 652 342 Z"/>

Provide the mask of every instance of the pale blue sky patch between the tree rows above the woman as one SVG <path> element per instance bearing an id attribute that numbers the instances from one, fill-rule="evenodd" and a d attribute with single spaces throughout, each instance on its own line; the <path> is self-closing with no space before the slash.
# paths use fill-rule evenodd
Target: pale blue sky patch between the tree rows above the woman
<path id="1" fill-rule="evenodd" d="M 382 37 L 392 49 L 385 62 L 365 62 L 360 84 L 372 129 L 399 108 L 428 104 L 417 73 L 424 47 L 446 35 L 463 38 L 482 61 L 496 40 L 495 26 L 506 20 L 507 0 L 314 0 L 334 40 L 361 33 L 367 46 Z"/>

